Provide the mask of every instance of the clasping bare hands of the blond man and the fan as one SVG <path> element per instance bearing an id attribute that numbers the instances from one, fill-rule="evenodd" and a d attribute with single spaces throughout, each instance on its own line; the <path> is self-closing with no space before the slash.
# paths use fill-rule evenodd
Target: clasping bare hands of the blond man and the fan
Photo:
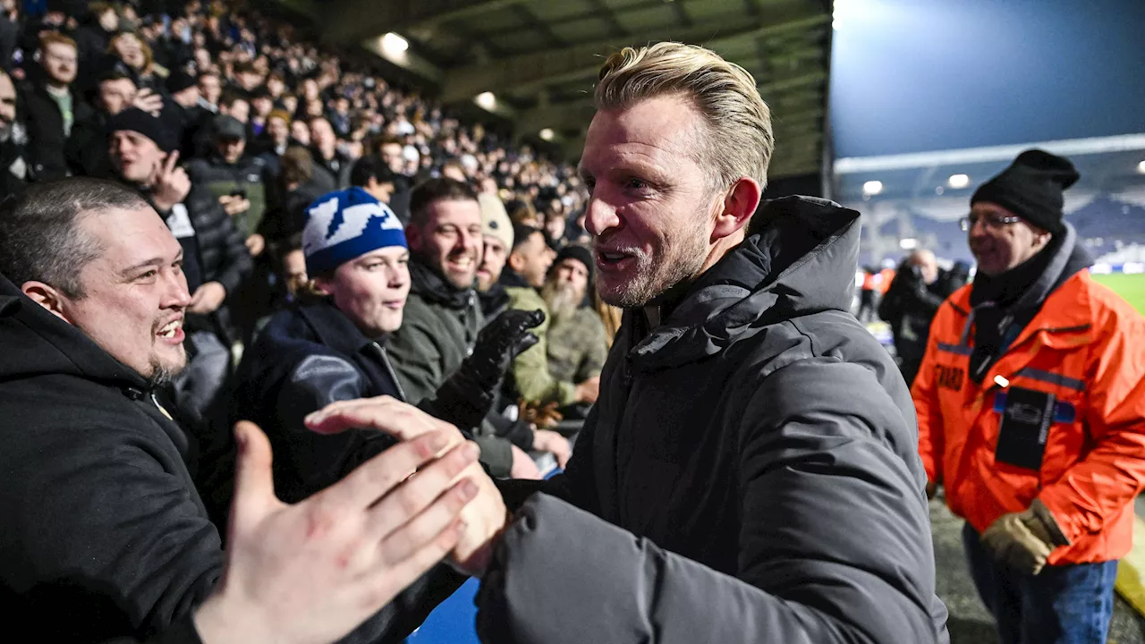
<path id="1" fill-rule="evenodd" d="M 204 644 L 333 642 L 442 560 L 484 574 L 508 512 L 457 427 L 386 396 L 335 402 L 306 424 L 370 427 L 401 442 L 287 505 L 274 493 L 266 434 L 236 426 L 227 564 L 195 613 Z"/>

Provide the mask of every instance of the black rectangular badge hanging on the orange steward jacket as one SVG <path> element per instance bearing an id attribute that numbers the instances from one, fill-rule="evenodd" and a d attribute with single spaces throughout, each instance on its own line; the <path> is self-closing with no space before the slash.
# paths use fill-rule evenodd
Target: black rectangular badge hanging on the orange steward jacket
<path id="1" fill-rule="evenodd" d="M 1057 396 L 1051 393 L 1009 387 L 1001 410 L 994 461 L 1041 470 L 1056 406 Z"/>

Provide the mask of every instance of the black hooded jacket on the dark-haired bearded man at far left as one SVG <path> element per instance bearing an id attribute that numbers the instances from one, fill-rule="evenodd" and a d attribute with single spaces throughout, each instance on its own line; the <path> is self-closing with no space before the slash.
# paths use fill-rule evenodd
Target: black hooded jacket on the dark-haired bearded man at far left
<path id="1" fill-rule="evenodd" d="M 0 612 L 44 642 L 189 620 L 223 567 L 148 383 L 0 276 Z"/>

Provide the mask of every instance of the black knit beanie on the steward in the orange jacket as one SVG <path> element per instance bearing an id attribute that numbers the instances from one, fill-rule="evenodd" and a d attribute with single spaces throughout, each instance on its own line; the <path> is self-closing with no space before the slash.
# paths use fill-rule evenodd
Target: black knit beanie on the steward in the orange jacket
<path id="1" fill-rule="evenodd" d="M 1061 193 L 1080 178 L 1069 159 L 1044 150 L 1026 150 L 1010 167 L 982 183 L 970 198 L 970 205 L 997 204 L 1039 228 L 1060 235 L 1066 229 L 1061 221 Z"/>

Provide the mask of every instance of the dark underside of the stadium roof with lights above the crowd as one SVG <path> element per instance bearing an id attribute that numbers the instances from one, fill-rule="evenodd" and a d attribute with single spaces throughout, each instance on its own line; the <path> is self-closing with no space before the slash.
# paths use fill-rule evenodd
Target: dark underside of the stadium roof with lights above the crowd
<path id="1" fill-rule="evenodd" d="M 317 17 L 317 2 L 284 3 Z M 704 45 L 750 71 L 771 105 L 772 176 L 822 166 L 830 0 L 329 0 L 321 18 L 326 42 L 362 42 L 447 104 L 481 96 L 520 136 L 551 131 L 570 156 L 606 56 L 648 41 Z"/>

